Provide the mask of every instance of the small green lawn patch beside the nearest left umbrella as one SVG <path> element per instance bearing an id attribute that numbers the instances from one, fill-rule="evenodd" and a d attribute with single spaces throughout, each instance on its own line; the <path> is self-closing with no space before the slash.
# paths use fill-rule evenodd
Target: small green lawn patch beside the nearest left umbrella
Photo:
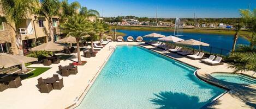
<path id="1" fill-rule="evenodd" d="M 20 75 L 22 80 L 34 78 L 34 77 L 39 76 L 40 74 L 46 72 L 47 70 L 51 69 L 49 67 L 27 67 L 27 68 L 33 68 L 35 70 L 33 70 L 32 72 L 27 73 L 25 75 Z"/>

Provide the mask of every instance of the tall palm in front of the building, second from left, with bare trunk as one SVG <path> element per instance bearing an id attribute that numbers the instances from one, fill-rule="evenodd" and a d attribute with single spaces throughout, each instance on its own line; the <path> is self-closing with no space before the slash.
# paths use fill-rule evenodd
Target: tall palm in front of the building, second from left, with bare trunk
<path id="1" fill-rule="evenodd" d="M 35 13 L 44 16 L 48 24 L 48 40 L 53 41 L 53 22 L 52 17 L 59 15 L 60 2 L 58 0 L 40 0 L 40 8 Z"/>

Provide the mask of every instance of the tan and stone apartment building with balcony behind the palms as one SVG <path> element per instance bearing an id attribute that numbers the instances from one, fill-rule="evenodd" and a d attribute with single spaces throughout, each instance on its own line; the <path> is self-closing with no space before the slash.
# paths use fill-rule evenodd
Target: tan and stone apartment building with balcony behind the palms
<path id="1" fill-rule="evenodd" d="M 1 2 L 1 1 L 0 1 Z M 0 17 L 4 17 L 4 11 L 0 4 Z M 60 34 L 58 17 L 53 17 L 53 34 L 55 40 L 58 39 Z M 13 53 L 18 54 L 18 48 L 16 46 L 16 37 L 14 30 L 6 22 L 0 22 L 0 53 Z M 48 41 L 46 31 L 48 29 L 49 22 L 45 17 L 38 15 L 29 15 L 26 19 L 22 19 L 19 25 L 19 33 L 21 34 L 23 52 L 26 54 L 29 48 L 32 48 L 32 44 L 37 40 L 40 43 Z M 14 25 L 14 24 L 13 24 Z M 15 27 L 15 26 L 13 26 Z"/>

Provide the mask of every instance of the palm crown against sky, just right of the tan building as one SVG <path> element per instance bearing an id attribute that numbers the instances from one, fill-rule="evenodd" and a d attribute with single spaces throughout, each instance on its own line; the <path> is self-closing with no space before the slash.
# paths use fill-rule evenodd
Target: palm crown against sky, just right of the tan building
<path id="1" fill-rule="evenodd" d="M 81 5 L 79 2 L 72 2 L 68 3 L 68 0 L 64 0 L 61 2 L 61 20 L 64 22 L 68 16 L 72 16 L 74 14 L 78 13 L 78 10 L 80 9 Z"/>

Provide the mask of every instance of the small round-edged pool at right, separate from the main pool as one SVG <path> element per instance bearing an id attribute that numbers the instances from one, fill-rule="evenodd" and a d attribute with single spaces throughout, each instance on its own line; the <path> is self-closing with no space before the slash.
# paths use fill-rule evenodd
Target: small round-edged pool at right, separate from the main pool
<path id="1" fill-rule="evenodd" d="M 211 75 L 216 79 L 233 82 L 236 84 L 256 84 L 256 79 L 249 78 L 248 76 L 242 74 L 212 73 Z"/>

